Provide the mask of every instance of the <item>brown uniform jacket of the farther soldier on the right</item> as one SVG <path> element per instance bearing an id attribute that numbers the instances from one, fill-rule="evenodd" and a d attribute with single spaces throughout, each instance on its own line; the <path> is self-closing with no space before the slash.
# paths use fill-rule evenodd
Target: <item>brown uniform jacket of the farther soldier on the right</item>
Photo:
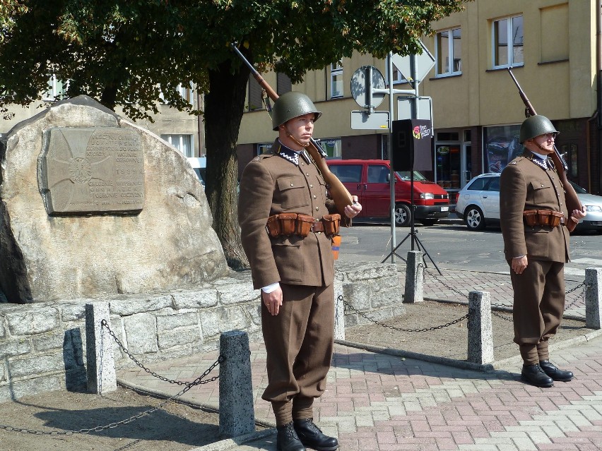
<path id="1" fill-rule="evenodd" d="M 555 169 L 543 169 L 525 150 L 502 171 L 500 179 L 500 224 L 507 260 L 521 255 L 565 263 L 569 260 L 569 231 L 564 226 L 529 227 L 524 210 L 563 212 L 568 219 L 565 191 Z"/>

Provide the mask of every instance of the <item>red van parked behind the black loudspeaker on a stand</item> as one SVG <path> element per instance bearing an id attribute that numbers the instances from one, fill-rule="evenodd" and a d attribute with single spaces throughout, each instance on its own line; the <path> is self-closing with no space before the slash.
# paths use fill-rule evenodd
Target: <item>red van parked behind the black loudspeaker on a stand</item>
<path id="1" fill-rule="evenodd" d="M 329 169 L 362 204 L 362 218 L 383 220 L 391 217 L 391 172 L 389 160 L 328 160 Z M 395 173 L 395 223 L 410 225 L 410 172 Z M 449 215 L 449 195 L 441 186 L 414 171 L 414 220 L 432 225 Z"/>

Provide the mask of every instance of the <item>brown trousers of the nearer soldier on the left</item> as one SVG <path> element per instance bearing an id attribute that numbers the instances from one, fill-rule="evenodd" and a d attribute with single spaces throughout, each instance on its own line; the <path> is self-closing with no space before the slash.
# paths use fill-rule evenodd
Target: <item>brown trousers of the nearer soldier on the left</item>
<path id="1" fill-rule="evenodd" d="M 334 285 L 282 284 L 283 304 L 272 316 L 261 303 L 268 386 L 276 424 L 313 417 L 314 398 L 326 387 L 334 348 Z"/>

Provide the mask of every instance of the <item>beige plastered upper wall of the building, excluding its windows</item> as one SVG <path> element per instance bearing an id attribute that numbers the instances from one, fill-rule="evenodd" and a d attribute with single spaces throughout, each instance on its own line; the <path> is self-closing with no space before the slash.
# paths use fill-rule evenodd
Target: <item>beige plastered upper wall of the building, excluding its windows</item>
<path id="1" fill-rule="evenodd" d="M 512 72 L 538 114 L 553 120 L 594 114 L 595 4 L 589 0 L 479 0 L 433 23 L 435 31 L 460 27 L 462 33 L 461 76 L 436 78 L 432 69 L 418 88 L 420 95 L 433 99 L 435 128 L 519 124 L 524 119 L 524 104 L 507 70 L 491 68 L 492 21 L 515 14 L 524 19 L 525 50 L 524 66 Z M 435 54 L 435 37 L 424 37 L 423 42 Z M 350 112 L 360 109 L 350 98 L 350 79 L 364 65 L 375 66 L 386 76 L 385 61 L 354 54 L 342 62 L 343 99 L 329 100 L 330 68 L 310 71 L 304 83 L 293 87 L 306 92 L 324 112 L 324 119 L 316 124 L 317 138 L 382 133 L 350 128 Z M 377 109 L 389 109 L 388 102 L 387 96 Z M 269 131 L 265 112 L 244 114 L 239 143 L 268 142 L 276 135 Z"/>

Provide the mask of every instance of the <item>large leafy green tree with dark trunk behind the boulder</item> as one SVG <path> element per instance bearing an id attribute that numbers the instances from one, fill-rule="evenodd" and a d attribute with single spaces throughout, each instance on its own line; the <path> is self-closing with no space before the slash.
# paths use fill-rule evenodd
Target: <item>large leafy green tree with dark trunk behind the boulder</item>
<path id="1" fill-rule="evenodd" d="M 0 112 L 40 100 L 54 74 L 67 97 L 85 94 L 129 118 L 157 105 L 202 114 L 206 194 L 228 263 L 247 259 L 236 217 L 238 129 L 249 69 L 300 82 L 356 51 L 383 58 L 420 52 L 430 23 L 470 0 L 0 0 Z M 204 111 L 178 91 L 194 85 Z"/>

